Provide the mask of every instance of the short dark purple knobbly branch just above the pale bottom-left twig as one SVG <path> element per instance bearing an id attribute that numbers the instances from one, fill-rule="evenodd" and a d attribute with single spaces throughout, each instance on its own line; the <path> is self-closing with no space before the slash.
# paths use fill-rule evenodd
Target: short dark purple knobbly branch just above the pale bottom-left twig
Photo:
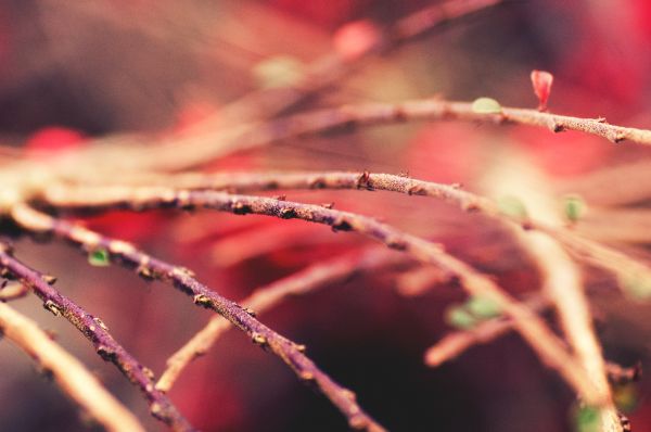
<path id="1" fill-rule="evenodd" d="M 113 363 L 135 385 L 150 406 L 151 414 L 171 427 L 174 431 L 194 431 L 188 420 L 180 415 L 165 393 L 154 387 L 153 372 L 142 366 L 108 333 L 103 321 L 88 314 L 72 300 L 60 294 L 50 285 L 54 279 L 42 275 L 14 258 L 7 244 L 0 243 L 0 266 L 13 275 L 21 283 L 29 287 L 43 302 L 43 307 L 55 316 L 63 316 L 92 342 L 98 354 Z"/>

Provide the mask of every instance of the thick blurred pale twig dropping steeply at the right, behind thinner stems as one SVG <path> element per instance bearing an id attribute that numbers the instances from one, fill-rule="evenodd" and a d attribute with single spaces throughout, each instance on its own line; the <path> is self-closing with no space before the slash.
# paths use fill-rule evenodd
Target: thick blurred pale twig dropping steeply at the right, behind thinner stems
<path id="1" fill-rule="evenodd" d="M 493 175 L 484 183 L 492 194 L 516 196 L 527 213 L 536 215 L 549 227 L 561 225 L 554 200 L 546 186 L 547 176 L 514 149 L 498 155 Z M 561 244 L 536 231 L 515 231 L 516 239 L 541 274 L 542 289 L 554 306 L 563 333 L 574 357 L 590 377 L 600 398 L 600 427 L 603 432 L 621 432 L 622 425 L 605 372 L 601 345 L 595 333 L 580 270 Z M 583 397 L 583 395 L 579 395 Z"/>

